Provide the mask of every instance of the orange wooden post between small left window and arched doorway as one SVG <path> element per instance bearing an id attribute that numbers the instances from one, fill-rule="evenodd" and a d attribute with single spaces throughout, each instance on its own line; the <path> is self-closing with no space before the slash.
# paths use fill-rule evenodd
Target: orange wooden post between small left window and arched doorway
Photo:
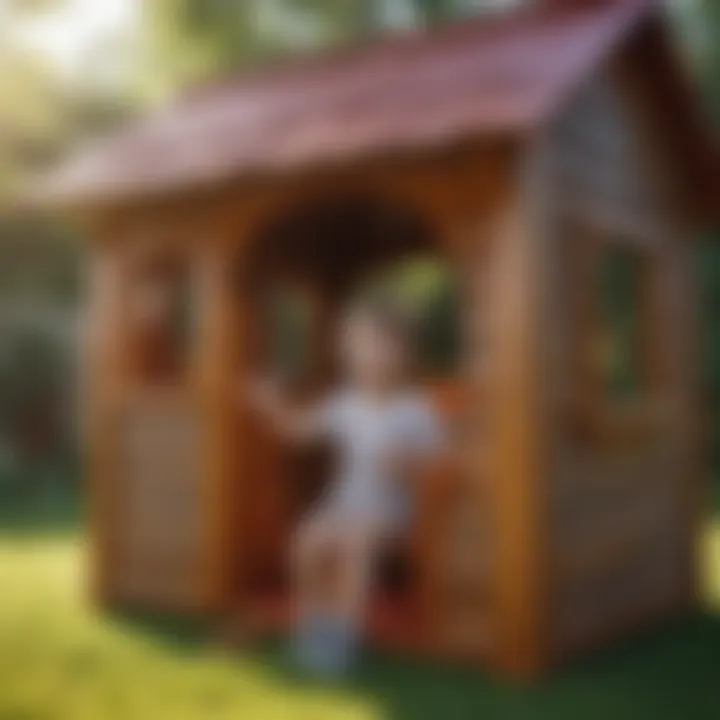
<path id="1" fill-rule="evenodd" d="M 227 607 L 239 580 L 242 465 L 240 386 L 249 351 L 248 302 L 240 292 L 238 230 L 213 218 L 198 248 L 195 367 L 201 417 L 201 604 Z"/>

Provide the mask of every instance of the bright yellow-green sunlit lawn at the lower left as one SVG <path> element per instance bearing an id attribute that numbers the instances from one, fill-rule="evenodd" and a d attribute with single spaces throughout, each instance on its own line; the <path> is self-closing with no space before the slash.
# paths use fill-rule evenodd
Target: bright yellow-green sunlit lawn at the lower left
<path id="1" fill-rule="evenodd" d="M 300 686 L 261 659 L 91 611 L 74 540 L 0 541 L 0 717 L 378 720 L 375 703 Z"/>

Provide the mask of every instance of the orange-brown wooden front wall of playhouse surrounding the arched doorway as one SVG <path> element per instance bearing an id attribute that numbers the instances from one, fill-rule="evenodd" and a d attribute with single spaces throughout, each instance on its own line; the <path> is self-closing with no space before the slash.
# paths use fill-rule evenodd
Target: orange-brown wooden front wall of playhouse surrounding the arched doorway
<path id="1" fill-rule="evenodd" d="M 264 483 L 264 474 L 278 472 L 282 463 L 268 464 L 272 450 L 256 442 L 240 388 L 259 371 L 258 316 L 248 289 L 259 280 L 252 258 L 265 229 L 304 205 L 375 197 L 426 221 L 437 252 L 453 258 L 470 290 L 484 272 L 479 249 L 494 232 L 494 218 L 504 213 L 512 157 L 507 145 L 458 148 L 101 215 L 112 232 L 95 237 L 90 304 L 97 322 L 88 344 L 90 408 L 97 419 L 89 437 L 89 480 L 99 597 L 168 609 L 225 609 L 241 600 L 253 554 L 263 552 L 257 543 L 265 542 L 267 528 L 254 533 L 248 518 L 261 506 L 258 495 L 272 485 Z M 165 381 L 139 372 L 129 318 L 134 266 L 146 253 L 180 257 L 192 288 L 188 357 L 181 372 Z M 339 272 L 342 261 L 340 253 Z M 479 405 L 488 379 L 478 371 L 478 358 L 470 353 L 468 359 L 460 381 L 467 379 Z M 467 484 L 436 530 L 443 542 L 431 542 L 433 552 L 426 555 L 435 601 L 427 620 L 434 644 L 477 656 L 490 624 L 487 605 L 477 601 L 489 571 L 468 548 L 481 549 L 487 539 L 480 491 L 486 477 L 479 474 L 485 458 L 477 437 L 487 422 L 477 408 L 471 415 L 463 440 Z"/>

